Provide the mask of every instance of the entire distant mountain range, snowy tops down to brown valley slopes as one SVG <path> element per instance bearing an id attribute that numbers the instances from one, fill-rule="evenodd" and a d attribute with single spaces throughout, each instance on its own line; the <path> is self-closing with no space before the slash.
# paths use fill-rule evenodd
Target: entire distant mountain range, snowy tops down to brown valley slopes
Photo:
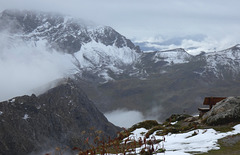
<path id="1" fill-rule="evenodd" d="M 135 109 L 162 120 L 196 113 L 205 96 L 240 90 L 239 45 L 196 56 L 184 49 L 146 53 L 111 27 L 31 11 L 3 11 L 0 30 L 11 38 L 9 46 L 17 38 L 70 54 L 76 79 L 102 112 Z"/>

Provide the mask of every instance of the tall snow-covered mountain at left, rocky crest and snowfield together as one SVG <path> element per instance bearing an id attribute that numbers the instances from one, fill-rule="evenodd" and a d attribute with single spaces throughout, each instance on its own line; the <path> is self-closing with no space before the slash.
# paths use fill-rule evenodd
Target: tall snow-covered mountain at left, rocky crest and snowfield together
<path id="1" fill-rule="evenodd" d="M 10 47 L 17 47 L 14 40 L 21 39 L 27 45 L 71 54 L 80 74 L 91 71 L 105 80 L 111 79 L 107 72 L 121 73 L 141 53 L 111 27 L 52 13 L 6 10 L 0 15 L 0 30 L 11 38 Z"/>

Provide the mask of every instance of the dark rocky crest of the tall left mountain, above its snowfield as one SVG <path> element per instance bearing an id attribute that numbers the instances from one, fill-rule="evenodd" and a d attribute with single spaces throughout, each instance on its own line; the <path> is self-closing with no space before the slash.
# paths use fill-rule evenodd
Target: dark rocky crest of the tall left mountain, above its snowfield
<path id="1" fill-rule="evenodd" d="M 129 47 L 141 52 L 129 39 L 111 27 L 96 26 L 92 22 L 56 13 L 5 10 L 0 17 L 0 31 L 18 32 L 25 40 L 47 40 L 51 48 L 75 53 L 83 44 L 93 40 L 106 46 Z"/>

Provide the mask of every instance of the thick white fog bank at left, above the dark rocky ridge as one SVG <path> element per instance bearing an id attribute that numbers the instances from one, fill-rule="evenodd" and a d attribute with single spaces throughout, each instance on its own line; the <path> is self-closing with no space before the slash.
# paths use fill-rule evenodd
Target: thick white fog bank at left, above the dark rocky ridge
<path id="1" fill-rule="evenodd" d="M 70 55 L 49 51 L 45 42 L 25 44 L 0 34 L 0 101 L 38 93 L 39 87 L 75 71 Z"/>

